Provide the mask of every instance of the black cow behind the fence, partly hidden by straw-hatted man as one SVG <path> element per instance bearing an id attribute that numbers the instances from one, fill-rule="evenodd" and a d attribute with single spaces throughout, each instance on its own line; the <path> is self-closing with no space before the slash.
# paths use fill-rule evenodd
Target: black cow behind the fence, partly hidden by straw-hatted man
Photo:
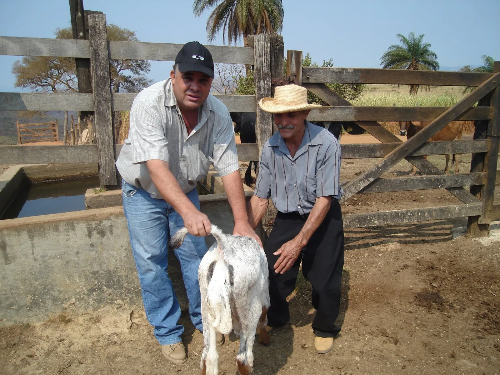
<path id="1" fill-rule="evenodd" d="M 235 123 L 234 132 L 239 132 L 241 143 L 255 143 L 255 112 L 230 112 L 231 119 Z M 358 124 L 353 121 L 310 121 L 315 125 L 326 128 L 335 138 L 340 139 L 342 135 L 342 126 L 349 134 L 362 134 L 364 132 Z M 254 165 L 255 174 L 258 173 L 258 160 L 251 160 L 246 169 L 244 182 L 247 186 L 253 182 L 251 177 L 251 164 Z"/>

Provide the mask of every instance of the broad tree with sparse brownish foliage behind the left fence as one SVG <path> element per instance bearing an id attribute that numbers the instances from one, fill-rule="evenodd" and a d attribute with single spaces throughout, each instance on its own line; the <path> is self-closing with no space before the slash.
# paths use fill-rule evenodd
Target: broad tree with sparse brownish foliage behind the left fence
<path id="1" fill-rule="evenodd" d="M 57 28 L 54 32 L 57 39 L 72 39 L 70 27 Z M 107 25 L 108 40 L 138 41 L 135 31 Z M 150 64 L 146 60 L 110 59 L 109 71 L 113 92 L 120 88 L 126 92 L 138 92 L 149 85 L 147 79 Z M 71 57 L 35 57 L 25 56 L 12 66 L 16 87 L 30 88 L 33 91 L 73 91 L 77 92 L 76 68 Z"/>

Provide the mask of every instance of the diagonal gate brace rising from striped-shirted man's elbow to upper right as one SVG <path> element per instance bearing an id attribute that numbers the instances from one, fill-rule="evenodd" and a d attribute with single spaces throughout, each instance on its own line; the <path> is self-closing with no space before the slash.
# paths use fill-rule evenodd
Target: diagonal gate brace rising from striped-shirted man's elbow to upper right
<path id="1" fill-rule="evenodd" d="M 428 126 L 420 130 L 414 136 L 409 138 L 406 142 L 389 152 L 382 161 L 375 164 L 357 178 L 350 181 L 344 187 L 344 195 L 340 202 L 350 198 L 368 183 L 379 177 L 382 173 L 387 171 L 391 166 L 397 163 L 402 158 L 406 157 L 409 153 L 418 148 L 423 142 L 441 130 L 449 122 L 453 121 L 456 117 L 462 114 L 467 108 L 472 106 L 477 100 L 486 95 L 489 91 L 494 89 L 500 84 L 500 73 L 496 73 L 489 79 L 484 81 L 474 91 L 467 96 L 463 97 L 455 105 L 444 111 L 439 117 L 432 121 Z"/>

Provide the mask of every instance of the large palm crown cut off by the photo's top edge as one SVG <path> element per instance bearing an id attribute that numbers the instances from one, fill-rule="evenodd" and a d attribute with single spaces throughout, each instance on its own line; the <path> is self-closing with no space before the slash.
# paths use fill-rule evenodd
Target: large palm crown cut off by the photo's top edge
<path id="1" fill-rule="evenodd" d="M 243 46 L 248 46 L 249 34 L 280 32 L 283 26 L 281 0 L 194 0 L 192 10 L 196 17 L 215 6 L 206 21 L 209 42 L 222 29 L 222 41 L 234 43 L 243 36 Z"/>

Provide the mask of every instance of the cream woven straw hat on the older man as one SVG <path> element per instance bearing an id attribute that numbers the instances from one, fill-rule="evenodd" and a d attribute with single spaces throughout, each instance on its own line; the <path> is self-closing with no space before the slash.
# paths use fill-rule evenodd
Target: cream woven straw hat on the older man
<path id="1" fill-rule="evenodd" d="M 276 87 L 274 97 L 261 98 L 258 106 L 260 109 L 271 113 L 321 108 L 321 104 L 307 103 L 307 89 L 296 84 Z"/>

